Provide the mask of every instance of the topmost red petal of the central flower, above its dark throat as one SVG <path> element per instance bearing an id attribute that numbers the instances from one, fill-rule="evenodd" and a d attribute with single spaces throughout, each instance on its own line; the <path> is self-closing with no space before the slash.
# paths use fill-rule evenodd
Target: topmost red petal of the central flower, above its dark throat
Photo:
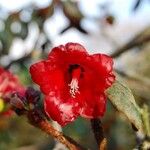
<path id="1" fill-rule="evenodd" d="M 78 43 L 67 43 L 65 46 L 54 47 L 48 55 L 49 60 L 62 67 L 67 68 L 69 64 L 81 64 L 85 57 L 89 56 L 86 49 Z M 63 59 L 63 61 L 61 61 Z"/>

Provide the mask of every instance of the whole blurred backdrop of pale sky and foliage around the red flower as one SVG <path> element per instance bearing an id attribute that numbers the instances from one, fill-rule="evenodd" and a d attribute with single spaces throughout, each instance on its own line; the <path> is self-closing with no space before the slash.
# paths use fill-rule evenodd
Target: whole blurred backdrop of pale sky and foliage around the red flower
<path id="1" fill-rule="evenodd" d="M 22 84 L 36 87 L 29 66 L 66 42 L 113 56 L 119 80 L 132 89 L 140 106 L 150 106 L 149 0 L 0 0 L 0 66 L 17 74 Z M 102 123 L 109 150 L 135 147 L 131 124 L 109 102 Z M 97 149 L 89 120 L 78 118 L 62 130 Z M 66 149 L 55 144 L 26 118 L 0 116 L 0 150 Z"/>

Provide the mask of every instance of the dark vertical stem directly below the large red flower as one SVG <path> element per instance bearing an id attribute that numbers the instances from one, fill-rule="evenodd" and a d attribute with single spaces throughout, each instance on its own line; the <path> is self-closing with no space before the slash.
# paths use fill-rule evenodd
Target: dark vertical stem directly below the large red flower
<path id="1" fill-rule="evenodd" d="M 99 150 L 106 150 L 107 140 L 104 137 L 103 128 L 100 119 L 91 119 L 92 130 L 98 144 Z"/>

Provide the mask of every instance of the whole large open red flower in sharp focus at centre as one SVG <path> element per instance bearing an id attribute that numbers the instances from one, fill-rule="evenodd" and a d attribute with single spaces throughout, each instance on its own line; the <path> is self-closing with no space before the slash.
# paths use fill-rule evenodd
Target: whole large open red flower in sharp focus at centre
<path id="1" fill-rule="evenodd" d="M 62 126 L 79 115 L 85 118 L 104 115 L 104 91 L 115 80 L 112 70 L 112 58 L 89 55 L 78 43 L 55 47 L 47 60 L 30 67 L 33 81 L 45 94 L 45 112 Z"/>

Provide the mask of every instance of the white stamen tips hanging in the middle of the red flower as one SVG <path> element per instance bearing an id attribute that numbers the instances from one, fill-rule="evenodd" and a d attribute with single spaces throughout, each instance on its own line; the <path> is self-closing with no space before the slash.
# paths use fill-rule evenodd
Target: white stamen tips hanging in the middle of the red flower
<path id="1" fill-rule="evenodd" d="M 79 92 L 79 86 L 78 86 L 78 80 L 76 78 L 73 78 L 71 80 L 71 83 L 69 84 L 70 86 L 70 94 L 73 98 L 75 98 L 76 93 Z"/>

